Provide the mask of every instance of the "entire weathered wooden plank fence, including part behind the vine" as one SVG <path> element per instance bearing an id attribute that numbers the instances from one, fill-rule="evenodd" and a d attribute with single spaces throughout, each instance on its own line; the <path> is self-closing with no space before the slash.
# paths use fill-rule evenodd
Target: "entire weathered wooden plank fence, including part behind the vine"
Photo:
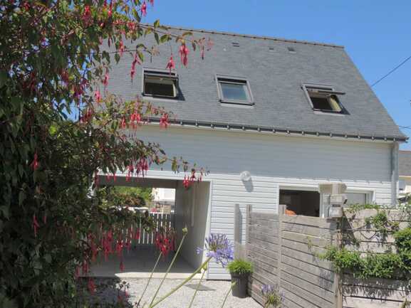
<path id="1" fill-rule="evenodd" d="M 262 285 L 279 286 L 283 308 L 408 308 L 411 286 L 400 280 L 356 280 L 353 275 L 338 275 L 331 262 L 319 254 L 328 245 L 338 245 L 348 232 L 357 238 L 355 249 L 384 253 L 392 245 L 392 236 L 385 240 L 372 236 L 373 230 L 361 228 L 371 212 L 361 212 L 351 219 L 350 226 L 338 229 L 335 221 L 308 216 L 286 216 L 256 213 L 247 206 L 246 257 L 254 263 L 249 280 L 249 294 L 261 304 Z M 400 221 L 398 213 L 392 219 Z"/>

